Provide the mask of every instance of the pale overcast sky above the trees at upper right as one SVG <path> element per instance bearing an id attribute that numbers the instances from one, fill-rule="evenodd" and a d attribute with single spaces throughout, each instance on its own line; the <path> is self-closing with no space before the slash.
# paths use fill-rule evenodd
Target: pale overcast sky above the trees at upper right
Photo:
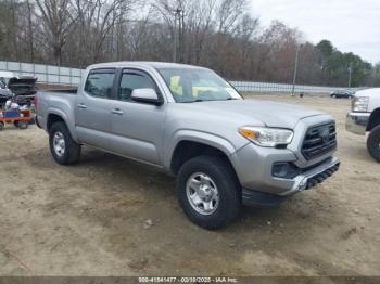
<path id="1" fill-rule="evenodd" d="M 299 28 L 305 39 L 328 39 L 343 52 L 380 62 L 380 0 L 249 0 L 267 27 L 279 20 Z"/>

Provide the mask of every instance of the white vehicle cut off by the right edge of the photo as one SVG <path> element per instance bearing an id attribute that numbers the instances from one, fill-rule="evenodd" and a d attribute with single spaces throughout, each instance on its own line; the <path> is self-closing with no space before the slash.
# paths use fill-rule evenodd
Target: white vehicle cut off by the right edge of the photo
<path id="1" fill-rule="evenodd" d="M 380 163 L 380 88 L 358 91 L 346 117 L 346 129 L 355 134 L 368 134 L 369 154 Z"/>

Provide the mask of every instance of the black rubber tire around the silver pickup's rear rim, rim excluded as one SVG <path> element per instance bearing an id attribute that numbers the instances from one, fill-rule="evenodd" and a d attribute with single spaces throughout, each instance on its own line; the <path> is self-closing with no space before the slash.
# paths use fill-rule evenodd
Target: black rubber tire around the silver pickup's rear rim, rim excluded
<path id="1" fill-rule="evenodd" d="M 64 140 L 64 152 L 60 155 L 54 150 L 54 135 L 61 133 Z M 80 158 L 80 145 L 76 143 L 64 122 L 55 122 L 49 130 L 50 152 L 55 162 L 61 165 L 72 165 Z"/>

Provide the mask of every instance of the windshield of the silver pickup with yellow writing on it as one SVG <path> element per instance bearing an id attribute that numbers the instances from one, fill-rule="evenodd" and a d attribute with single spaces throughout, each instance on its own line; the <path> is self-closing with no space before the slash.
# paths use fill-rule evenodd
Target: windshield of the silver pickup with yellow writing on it
<path id="1" fill-rule="evenodd" d="M 157 69 L 177 103 L 241 100 L 231 85 L 214 72 L 197 68 Z"/>

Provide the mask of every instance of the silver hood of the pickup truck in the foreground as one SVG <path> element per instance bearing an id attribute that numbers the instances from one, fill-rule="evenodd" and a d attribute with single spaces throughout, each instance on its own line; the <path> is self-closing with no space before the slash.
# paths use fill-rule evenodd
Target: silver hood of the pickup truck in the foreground
<path id="1" fill-rule="evenodd" d="M 292 104 L 259 101 L 233 100 L 189 103 L 194 113 L 215 114 L 224 118 L 240 119 L 243 124 L 257 124 L 267 127 L 293 129 L 303 118 L 324 113 Z"/>

